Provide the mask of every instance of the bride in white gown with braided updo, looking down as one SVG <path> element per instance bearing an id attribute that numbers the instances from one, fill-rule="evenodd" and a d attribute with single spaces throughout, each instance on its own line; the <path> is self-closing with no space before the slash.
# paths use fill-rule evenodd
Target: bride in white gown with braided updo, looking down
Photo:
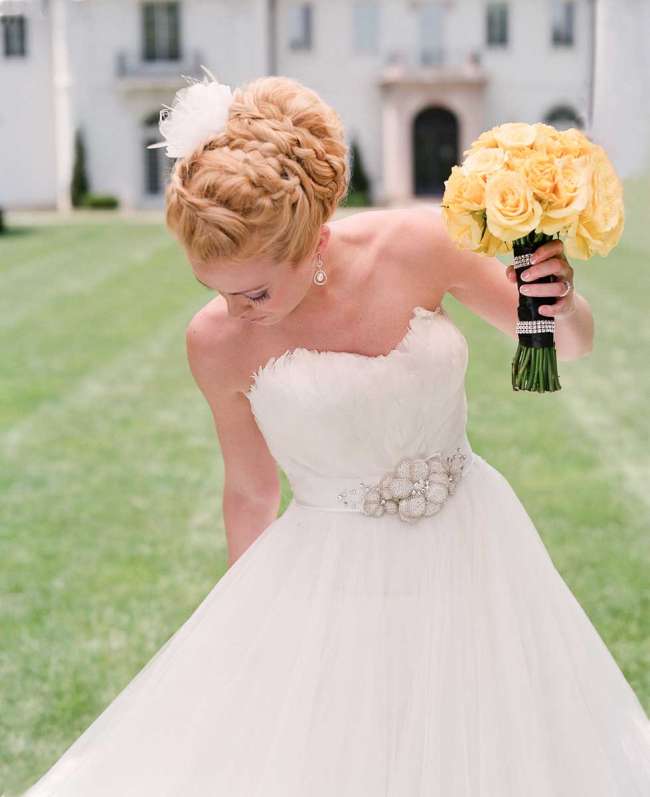
<path id="1" fill-rule="evenodd" d="M 187 328 L 229 568 L 29 797 L 647 797 L 650 722 L 466 433 L 451 294 L 516 340 L 512 267 L 433 207 L 337 221 L 336 112 L 283 77 L 179 93 L 166 221 L 218 294 Z M 593 319 L 562 243 L 558 357 Z M 277 516 L 278 465 L 293 497 Z"/>

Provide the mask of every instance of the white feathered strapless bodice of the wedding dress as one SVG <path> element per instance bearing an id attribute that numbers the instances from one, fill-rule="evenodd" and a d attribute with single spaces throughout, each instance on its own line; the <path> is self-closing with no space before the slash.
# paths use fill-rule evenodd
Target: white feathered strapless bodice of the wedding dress
<path id="1" fill-rule="evenodd" d="M 252 374 L 245 395 L 294 498 L 335 508 L 341 488 L 404 457 L 461 448 L 471 460 L 467 362 L 444 308 L 416 306 L 388 354 L 289 349 Z"/>

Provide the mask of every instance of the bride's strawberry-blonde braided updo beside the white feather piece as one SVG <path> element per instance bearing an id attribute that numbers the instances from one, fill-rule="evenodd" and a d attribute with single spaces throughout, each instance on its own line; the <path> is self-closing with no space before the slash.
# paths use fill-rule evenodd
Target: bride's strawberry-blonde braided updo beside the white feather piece
<path id="1" fill-rule="evenodd" d="M 348 157 L 341 119 L 315 91 L 258 78 L 234 90 L 225 128 L 175 161 L 166 224 L 201 262 L 298 263 L 348 191 Z"/>

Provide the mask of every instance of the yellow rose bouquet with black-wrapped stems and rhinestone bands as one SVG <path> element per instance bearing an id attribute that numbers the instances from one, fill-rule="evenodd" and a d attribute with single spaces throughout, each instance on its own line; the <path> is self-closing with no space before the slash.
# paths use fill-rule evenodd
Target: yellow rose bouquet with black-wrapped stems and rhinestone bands
<path id="1" fill-rule="evenodd" d="M 546 241 L 562 238 L 569 257 L 607 255 L 623 232 L 623 187 L 604 149 L 575 128 L 508 122 L 474 141 L 445 181 L 442 215 L 461 249 L 512 251 L 517 273 Z M 547 275 L 528 284 L 553 282 Z M 555 319 L 538 312 L 553 296 L 519 292 L 513 390 L 560 390 Z"/>

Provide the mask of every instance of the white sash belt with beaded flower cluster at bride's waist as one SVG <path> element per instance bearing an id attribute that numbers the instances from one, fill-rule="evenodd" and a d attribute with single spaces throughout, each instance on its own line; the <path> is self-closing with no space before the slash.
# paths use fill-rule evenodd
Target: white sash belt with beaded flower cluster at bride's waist
<path id="1" fill-rule="evenodd" d="M 442 509 L 473 461 L 474 453 L 464 441 L 454 449 L 404 457 L 394 470 L 371 483 L 358 478 L 323 480 L 311 491 L 314 495 L 299 490 L 294 501 L 312 509 L 360 512 L 374 518 L 395 515 L 413 523 Z"/>

